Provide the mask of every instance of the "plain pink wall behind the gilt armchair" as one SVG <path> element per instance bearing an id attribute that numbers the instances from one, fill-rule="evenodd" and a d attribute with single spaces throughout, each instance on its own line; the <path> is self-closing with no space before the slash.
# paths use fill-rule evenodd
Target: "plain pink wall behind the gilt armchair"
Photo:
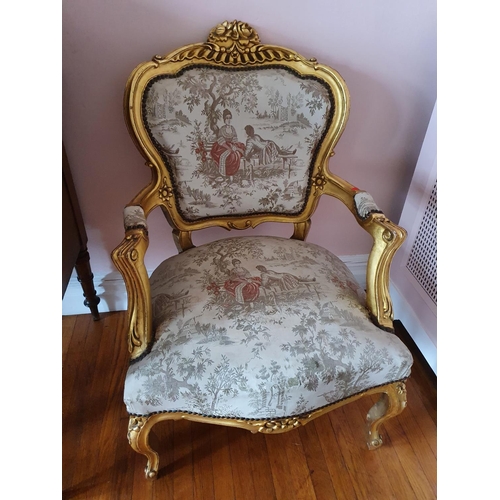
<path id="1" fill-rule="evenodd" d="M 351 115 L 330 169 L 399 220 L 436 101 L 436 0 L 233 0 L 229 7 L 221 0 L 85 0 L 64 2 L 62 14 L 63 141 L 94 274 L 116 271 L 109 254 L 123 237 L 122 209 L 149 181 L 123 121 L 130 72 L 155 54 L 204 41 L 226 19 L 248 22 L 264 43 L 288 46 L 340 72 Z M 161 213 L 149 223 L 152 269 L 176 249 Z M 290 234 L 282 227 L 255 232 L 274 229 Z M 347 230 L 349 241 L 341 236 Z M 228 235 L 207 230 L 195 243 Z M 326 197 L 308 240 L 338 255 L 366 254 L 371 244 L 343 205 Z"/>

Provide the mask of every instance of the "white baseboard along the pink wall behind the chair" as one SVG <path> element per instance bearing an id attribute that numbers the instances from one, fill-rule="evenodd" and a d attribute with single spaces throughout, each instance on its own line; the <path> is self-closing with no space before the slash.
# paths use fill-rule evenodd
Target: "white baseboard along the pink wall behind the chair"
<path id="1" fill-rule="evenodd" d="M 340 257 L 351 270 L 358 283 L 366 287 L 366 263 L 368 255 L 349 255 Z M 151 272 L 149 272 L 151 275 Z M 94 287 L 101 299 L 99 302 L 100 312 L 124 311 L 127 309 L 127 291 L 121 274 L 116 271 L 106 275 L 94 275 Z M 68 283 L 68 288 L 62 301 L 62 314 L 90 314 L 90 310 L 83 303 L 82 287 L 76 273 L 73 272 Z"/>

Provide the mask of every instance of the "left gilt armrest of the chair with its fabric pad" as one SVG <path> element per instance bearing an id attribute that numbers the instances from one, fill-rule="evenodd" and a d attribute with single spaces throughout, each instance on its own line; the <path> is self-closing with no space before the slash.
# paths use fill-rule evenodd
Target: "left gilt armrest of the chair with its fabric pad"
<path id="1" fill-rule="evenodd" d="M 140 206 L 124 210 L 125 238 L 111 258 L 125 281 L 128 295 L 128 349 L 131 360 L 145 354 L 152 340 L 149 277 L 144 256 L 149 245 L 146 217 Z"/>

